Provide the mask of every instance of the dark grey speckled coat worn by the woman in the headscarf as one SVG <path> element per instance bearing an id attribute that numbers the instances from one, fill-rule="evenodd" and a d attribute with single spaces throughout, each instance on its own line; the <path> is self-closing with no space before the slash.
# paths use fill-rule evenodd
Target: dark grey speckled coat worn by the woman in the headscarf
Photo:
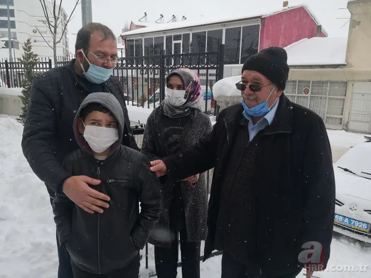
<path id="1" fill-rule="evenodd" d="M 149 160 L 164 158 L 172 153 L 165 147 L 165 138 L 161 125 L 161 115 L 163 107 L 160 106 L 153 110 L 149 115 L 144 130 L 142 152 Z M 212 130 L 210 119 L 202 111 L 193 109 L 190 120 L 185 125 L 181 139 L 180 150 L 185 150 L 199 142 L 200 138 Z M 196 186 L 192 188 L 189 182 L 180 182 L 185 213 L 185 226 L 187 228 L 188 241 L 205 240 L 207 236 L 207 203 L 208 196 L 206 190 L 205 172 L 200 173 L 200 178 Z M 169 228 L 170 217 L 169 207 L 172 201 L 173 180 L 166 180 L 161 185 L 162 193 L 162 212 L 160 220 L 150 236 L 148 242 L 158 247 L 170 248 L 171 233 Z"/>

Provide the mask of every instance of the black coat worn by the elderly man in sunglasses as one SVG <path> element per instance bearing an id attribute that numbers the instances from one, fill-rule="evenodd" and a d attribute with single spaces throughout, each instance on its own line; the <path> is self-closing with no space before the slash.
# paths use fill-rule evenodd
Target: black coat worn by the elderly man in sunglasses
<path id="1" fill-rule="evenodd" d="M 197 145 L 163 159 L 169 179 L 184 179 L 215 167 L 204 260 L 217 246 L 229 246 L 231 240 L 218 239 L 215 234 L 223 228 L 218 226 L 220 204 L 229 196 L 221 192 L 228 162 L 234 159 L 230 154 L 242 112 L 241 105 L 226 108 L 212 132 Z M 282 94 L 272 124 L 259 131 L 249 144 L 256 144 L 255 166 L 244 169 L 251 171 L 256 181 L 256 248 L 243 250 L 244 255 L 238 250 L 240 246 L 229 248 L 229 255 L 245 265 L 254 258 L 260 264 L 258 271 L 279 275 L 303 266 L 298 261 L 301 246 L 318 241 L 323 246 L 326 268 L 333 230 L 335 180 L 323 120 Z M 230 237 L 235 233 L 240 231 L 231 229 Z"/>

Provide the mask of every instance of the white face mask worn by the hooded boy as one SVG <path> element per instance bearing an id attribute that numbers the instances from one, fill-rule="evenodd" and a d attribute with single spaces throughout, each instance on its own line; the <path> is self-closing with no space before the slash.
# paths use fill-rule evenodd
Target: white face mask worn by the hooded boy
<path id="1" fill-rule="evenodd" d="M 91 150 L 96 153 L 103 153 L 118 140 L 118 130 L 116 128 L 87 125 L 83 136 Z"/>

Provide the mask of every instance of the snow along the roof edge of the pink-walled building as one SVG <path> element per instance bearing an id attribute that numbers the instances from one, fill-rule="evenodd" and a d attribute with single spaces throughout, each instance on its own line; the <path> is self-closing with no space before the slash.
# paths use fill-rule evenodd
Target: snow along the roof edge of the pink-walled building
<path id="1" fill-rule="evenodd" d="M 279 11 L 274 10 L 271 12 L 266 12 L 266 7 L 262 7 L 261 9 L 264 9 L 264 11 L 253 11 L 251 14 L 244 14 L 243 16 L 239 17 L 228 17 L 228 18 L 219 18 L 219 19 L 205 19 L 204 17 L 201 17 L 199 19 L 195 20 L 184 20 L 184 21 L 177 21 L 177 22 L 169 22 L 169 23 L 161 23 L 136 30 L 131 30 L 127 32 L 123 32 L 121 34 L 122 37 L 127 37 L 127 36 L 132 36 L 136 34 L 144 34 L 144 33 L 150 33 L 150 32 L 160 32 L 160 31 L 166 31 L 166 30 L 173 30 L 173 29 L 182 29 L 182 28 L 189 28 L 189 27 L 195 27 L 195 26 L 203 26 L 203 25 L 211 25 L 211 24 L 220 24 L 220 23 L 226 23 L 230 21 L 242 21 L 242 20 L 249 20 L 249 19 L 254 19 L 254 18 L 263 18 L 267 16 L 271 16 L 274 14 L 279 14 L 282 12 L 286 12 L 288 10 L 293 10 L 297 8 L 304 7 L 306 11 L 313 17 L 313 19 L 316 21 L 318 24 L 318 20 L 315 18 L 313 13 L 310 11 L 310 9 L 307 8 L 305 5 L 300 5 L 300 6 L 292 6 L 292 7 L 287 7 L 283 8 Z"/>

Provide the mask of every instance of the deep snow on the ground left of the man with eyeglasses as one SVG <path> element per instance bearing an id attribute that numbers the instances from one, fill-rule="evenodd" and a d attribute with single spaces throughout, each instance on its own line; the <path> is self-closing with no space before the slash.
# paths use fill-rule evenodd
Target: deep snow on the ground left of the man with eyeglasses
<path id="1" fill-rule="evenodd" d="M 44 184 L 21 150 L 23 126 L 0 118 L 0 276 L 53 277 L 55 228 Z"/>

